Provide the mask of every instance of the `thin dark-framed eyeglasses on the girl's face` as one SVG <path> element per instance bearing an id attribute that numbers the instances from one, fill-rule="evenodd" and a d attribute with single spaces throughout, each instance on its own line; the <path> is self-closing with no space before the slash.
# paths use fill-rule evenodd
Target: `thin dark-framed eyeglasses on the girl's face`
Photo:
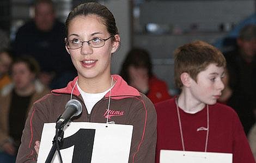
<path id="1" fill-rule="evenodd" d="M 107 39 L 101 39 L 99 37 L 95 37 L 94 39 L 89 40 L 89 41 L 80 41 L 79 39 L 68 40 L 68 41 L 66 41 L 66 47 L 68 47 L 68 49 L 78 49 L 83 46 L 84 42 L 87 42 L 90 47 L 99 48 L 99 47 L 104 46 L 105 41 L 107 41 L 108 39 L 110 39 L 113 36 L 114 35 L 108 37 Z"/>

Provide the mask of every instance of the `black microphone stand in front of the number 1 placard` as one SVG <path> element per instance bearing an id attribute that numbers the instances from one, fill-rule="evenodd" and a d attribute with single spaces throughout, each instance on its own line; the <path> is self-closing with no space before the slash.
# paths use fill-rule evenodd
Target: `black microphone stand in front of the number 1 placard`
<path id="1" fill-rule="evenodd" d="M 59 116 L 60 117 L 60 116 Z M 59 120 L 59 118 L 58 118 Z M 57 120 L 57 121 L 58 121 Z M 52 148 L 51 148 L 51 151 L 49 152 L 48 156 L 47 156 L 47 159 L 45 161 L 45 163 L 51 163 L 52 161 L 52 158 L 53 158 L 53 155 L 55 154 L 56 152 L 56 149 L 57 149 L 57 144 L 56 142 L 58 143 L 58 146 L 62 146 L 62 143 L 63 143 L 63 137 L 64 137 L 64 131 L 63 131 L 63 127 L 58 129 L 56 128 L 56 134 L 55 136 L 53 137 L 53 141 L 52 141 Z"/>

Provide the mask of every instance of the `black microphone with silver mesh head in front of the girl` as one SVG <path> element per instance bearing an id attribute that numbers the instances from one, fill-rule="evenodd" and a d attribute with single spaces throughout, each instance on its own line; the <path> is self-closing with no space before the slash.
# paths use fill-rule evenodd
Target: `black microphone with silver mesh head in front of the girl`
<path id="1" fill-rule="evenodd" d="M 72 117 L 80 115 L 82 112 L 82 104 L 76 99 L 70 99 L 70 101 L 66 103 L 65 109 L 66 110 L 56 122 L 56 129 L 65 126 Z"/>

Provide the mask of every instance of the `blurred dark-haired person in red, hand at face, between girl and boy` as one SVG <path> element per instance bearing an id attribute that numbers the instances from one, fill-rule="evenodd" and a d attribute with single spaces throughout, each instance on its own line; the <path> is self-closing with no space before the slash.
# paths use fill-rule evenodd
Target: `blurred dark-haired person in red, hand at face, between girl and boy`
<path id="1" fill-rule="evenodd" d="M 149 53 L 145 49 L 133 48 L 127 54 L 120 76 L 138 91 L 144 93 L 153 102 L 172 98 L 167 84 L 154 76 Z"/>

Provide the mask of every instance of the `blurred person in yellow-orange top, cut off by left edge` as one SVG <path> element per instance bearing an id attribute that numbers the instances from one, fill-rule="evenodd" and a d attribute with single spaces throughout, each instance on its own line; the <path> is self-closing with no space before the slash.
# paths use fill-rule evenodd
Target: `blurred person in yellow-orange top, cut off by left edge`
<path id="1" fill-rule="evenodd" d="M 11 52 L 7 48 L 0 50 L 0 90 L 7 84 L 11 82 L 9 77 L 9 68 L 11 62 L 13 61 L 11 57 Z"/>

